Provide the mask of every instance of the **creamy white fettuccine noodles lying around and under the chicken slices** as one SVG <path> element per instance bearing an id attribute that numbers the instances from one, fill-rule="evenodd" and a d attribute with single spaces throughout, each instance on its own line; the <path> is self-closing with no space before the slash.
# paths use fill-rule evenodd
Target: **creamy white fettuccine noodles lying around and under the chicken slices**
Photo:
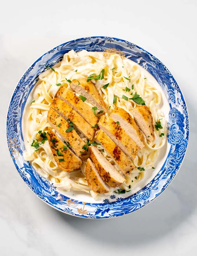
<path id="1" fill-rule="evenodd" d="M 160 120 L 162 129 L 157 131 L 155 129 L 155 140 L 148 142 L 145 138 L 145 147 L 138 151 L 134 159 L 134 170 L 126 176 L 126 182 L 119 188 L 129 191 L 135 187 L 137 182 L 144 176 L 145 171 L 140 169 L 143 167 L 145 170 L 152 169 L 154 163 L 158 158 L 159 149 L 163 147 L 166 141 L 166 136 L 159 136 L 161 133 L 166 134 L 166 120 L 163 112 L 160 110 L 160 103 L 162 103 L 162 95 L 152 83 L 146 79 L 139 66 L 125 58 L 122 59 L 118 54 L 113 54 L 109 59 L 105 59 L 102 52 L 88 52 L 82 50 L 75 52 L 73 50 L 64 54 L 63 60 L 55 65 L 52 69 L 49 68 L 39 75 L 33 92 L 33 102 L 26 109 L 27 115 L 25 118 L 25 134 L 27 140 L 25 141 L 26 151 L 24 152 L 25 160 L 30 161 L 32 167 L 43 177 L 49 179 L 54 185 L 66 191 L 71 189 L 74 191 L 84 191 L 90 193 L 95 199 L 101 195 L 97 195 L 91 191 L 85 179 L 85 161 L 80 169 L 73 170 L 66 173 L 60 170 L 54 160 L 48 141 L 41 144 L 39 149 L 35 151 L 35 147 L 31 146 L 32 141 L 37 141 L 40 134 L 39 131 L 47 132 L 50 127 L 47 122 L 47 114 L 49 111 L 50 103 L 56 95 L 61 86 L 72 90 L 69 81 L 90 76 L 92 73 L 99 74 L 101 70 L 105 70 L 104 79 L 92 80 L 102 96 L 109 115 L 115 106 L 125 109 L 129 114 L 130 111 L 137 106 L 136 102 L 131 99 L 125 100 L 123 95 L 130 98 L 137 92 L 145 101 L 146 106 L 152 112 L 153 122 Z M 128 79 L 123 79 L 123 77 Z M 110 86 L 103 88 L 107 83 Z M 125 88 L 130 88 L 126 91 Z M 77 95 L 77 94 L 76 94 Z M 79 95 L 77 95 L 79 96 Z M 114 103 L 114 96 L 116 96 L 116 103 Z M 86 103 L 92 106 L 90 103 Z M 95 141 L 94 135 L 92 141 Z M 84 141 L 85 137 L 81 136 Z M 27 142 L 28 141 L 28 142 Z M 107 156 L 106 152 L 102 151 L 101 145 L 96 145 L 101 150 L 102 154 L 110 163 L 114 164 L 113 160 Z M 138 168 L 138 167 L 141 168 Z M 114 189 L 111 189 L 110 193 Z"/>

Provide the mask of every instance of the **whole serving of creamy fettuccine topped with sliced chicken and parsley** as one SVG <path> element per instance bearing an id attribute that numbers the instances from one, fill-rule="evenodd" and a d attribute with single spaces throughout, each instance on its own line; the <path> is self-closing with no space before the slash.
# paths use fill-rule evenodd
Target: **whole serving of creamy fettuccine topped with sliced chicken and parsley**
<path id="1" fill-rule="evenodd" d="M 118 54 L 71 50 L 46 68 L 26 110 L 25 160 L 66 191 L 132 190 L 166 141 L 161 93 Z"/>

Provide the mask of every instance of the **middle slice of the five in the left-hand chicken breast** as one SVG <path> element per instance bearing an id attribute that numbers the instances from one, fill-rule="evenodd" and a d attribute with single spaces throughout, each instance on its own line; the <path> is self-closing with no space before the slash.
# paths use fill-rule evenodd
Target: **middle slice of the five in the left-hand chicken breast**
<path id="1" fill-rule="evenodd" d="M 89 140 L 92 140 L 94 136 L 95 129 L 91 128 L 81 115 L 79 115 L 71 106 L 61 99 L 54 97 L 51 102 L 50 107 L 54 109 L 58 114 L 60 114 L 66 120 L 69 119 L 73 122 L 75 129 L 80 131 Z"/>

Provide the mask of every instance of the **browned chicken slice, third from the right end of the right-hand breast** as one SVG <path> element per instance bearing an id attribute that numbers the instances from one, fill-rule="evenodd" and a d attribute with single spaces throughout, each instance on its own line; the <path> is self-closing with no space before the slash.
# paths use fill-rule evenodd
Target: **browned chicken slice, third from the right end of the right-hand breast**
<path id="1" fill-rule="evenodd" d="M 116 145 L 128 156 L 132 159 L 135 159 L 138 146 L 129 137 L 129 135 L 125 132 L 125 130 L 114 122 L 107 115 L 103 115 L 98 122 L 98 126 L 116 143 Z"/>

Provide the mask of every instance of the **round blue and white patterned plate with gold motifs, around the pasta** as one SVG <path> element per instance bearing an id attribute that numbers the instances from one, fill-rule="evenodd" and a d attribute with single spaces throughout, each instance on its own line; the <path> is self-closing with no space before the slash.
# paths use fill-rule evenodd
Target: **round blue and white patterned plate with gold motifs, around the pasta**
<path id="1" fill-rule="evenodd" d="M 28 96 L 38 80 L 38 75 L 46 66 L 62 60 L 63 55 L 73 49 L 80 51 L 103 51 L 105 57 L 117 53 L 129 58 L 143 67 L 166 97 L 168 120 L 168 139 L 163 158 L 156 170 L 146 179 L 147 183 L 132 194 L 114 194 L 101 201 L 90 196 L 59 191 L 47 179 L 41 177 L 23 158 L 25 145 L 22 133 L 22 117 Z M 111 218 L 128 214 L 147 205 L 174 179 L 185 156 L 189 136 L 189 118 L 183 94 L 167 67 L 156 57 L 141 47 L 118 38 L 88 37 L 72 40 L 46 52 L 23 74 L 12 95 L 7 116 L 7 140 L 10 155 L 21 178 L 41 200 L 50 206 L 83 218 Z M 134 191 L 135 192 L 135 191 Z"/>

